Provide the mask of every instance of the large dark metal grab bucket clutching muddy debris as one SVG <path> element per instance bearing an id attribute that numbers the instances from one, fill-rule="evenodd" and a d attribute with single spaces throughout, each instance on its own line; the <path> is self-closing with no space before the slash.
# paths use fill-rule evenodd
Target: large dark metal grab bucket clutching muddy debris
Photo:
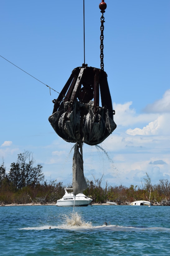
<path id="1" fill-rule="evenodd" d="M 49 122 L 67 142 L 97 145 L 116 129 L 107 74 L 102 69 L 76 67 L 53 103 Z"/>

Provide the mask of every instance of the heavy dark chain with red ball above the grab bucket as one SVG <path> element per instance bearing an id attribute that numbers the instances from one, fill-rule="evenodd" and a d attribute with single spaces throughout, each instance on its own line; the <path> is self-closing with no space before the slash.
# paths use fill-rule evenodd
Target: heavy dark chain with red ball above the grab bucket
<path id="1" fill-rule="evenodd" d="M 106 7 L 107 7 L 106 3 L 104 2 L 104 0 L 102 0 L 102 2 L 99 4 L 99 8 L 101 10 L 100 12 L 102 13 L 102 16 L 100 18 L 100 20 L 101 20 L 101 26 L 100 26 L 100 31 L 101 31 L 101 35 L 100 35 L 100 67 L 101 67 L 102 70 L 104 70 L 104 63 L 103 63 L 103 58 L 104 58 L 104 54 L 103 54 L 104 24 L 103 23 L 105 22 L 103 13 L 105 12 Z"/>

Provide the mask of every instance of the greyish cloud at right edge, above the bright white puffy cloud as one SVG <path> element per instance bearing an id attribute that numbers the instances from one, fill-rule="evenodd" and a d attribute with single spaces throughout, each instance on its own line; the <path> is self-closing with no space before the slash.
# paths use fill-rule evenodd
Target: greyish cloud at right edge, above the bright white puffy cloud
<path id="1" fill-rule="evenodd" d="M 165 91 L 162 99 L 147 105 L 144 111 L 147 113 L 170 113 L 170 89 Z"/>

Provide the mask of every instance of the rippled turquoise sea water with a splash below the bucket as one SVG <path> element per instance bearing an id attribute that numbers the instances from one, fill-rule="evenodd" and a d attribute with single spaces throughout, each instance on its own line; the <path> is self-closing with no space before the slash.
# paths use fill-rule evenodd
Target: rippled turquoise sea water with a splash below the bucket
<path id="1" fill-rule="evenodd" d="M 170 207 L 0 207 L 0 255 L 168 256 Z"/>

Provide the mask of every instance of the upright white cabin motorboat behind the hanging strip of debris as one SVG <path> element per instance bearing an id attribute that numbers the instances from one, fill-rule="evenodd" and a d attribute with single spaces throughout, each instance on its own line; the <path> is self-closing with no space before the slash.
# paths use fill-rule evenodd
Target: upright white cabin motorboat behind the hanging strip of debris
<path id="1" fill-rule="evenodd" d="M 56 206 L 88 206 L 93 201 L 83 193 L 74 196 L 72 188 L 65 187 L 64 190 L 65 194 L 57 200 Z"/>

